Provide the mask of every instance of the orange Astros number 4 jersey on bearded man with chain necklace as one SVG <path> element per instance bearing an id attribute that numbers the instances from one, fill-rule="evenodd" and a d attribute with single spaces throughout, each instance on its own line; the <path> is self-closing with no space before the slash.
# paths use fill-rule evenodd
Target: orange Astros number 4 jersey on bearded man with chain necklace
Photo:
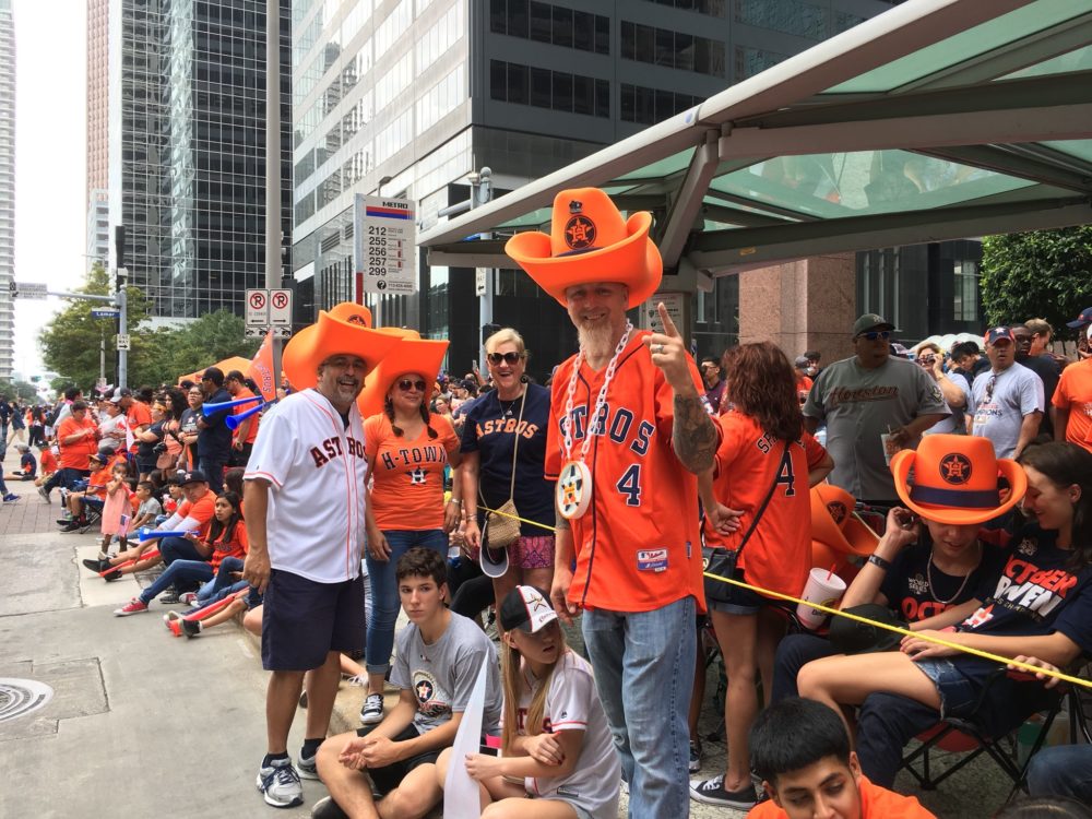
<path id="1" fill-rule="evenodd" d="M 701 547 L 698 541 L 698 479 L 672 449 L 674 393 L 637 332 L 618 358 L 607 391 L 605 419 L 595 425 L 584 459 L 592 473 L 592 502 L 571 521 L 577 569 L 569 601 L 587 608 L 650 612 L 686 596 L 704 610 Z M 548 480 L 567 460 L 561 424 L 575 356 L 554 376 L 546 436 Z M 695 387 L 704 389 L 687 356 Z M 606 367 L 586 364 L 577 377 L 572 402 L 573 443 L 579 459 Z"/>

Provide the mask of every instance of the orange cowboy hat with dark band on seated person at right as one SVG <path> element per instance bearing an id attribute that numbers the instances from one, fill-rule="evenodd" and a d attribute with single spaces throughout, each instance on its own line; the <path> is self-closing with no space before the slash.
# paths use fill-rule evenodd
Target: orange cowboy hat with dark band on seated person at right
<path id="1" fill-rule="evenodd" d="M 911 470 L 914 483 L 907 484 Z M 1009 482 L 1001 501 L 997 473 Z M 916 450 L 891 459 L 894 489 L 906 507 L 937 523 L 985 523 L 1012 509 L 1028 491 L 1028 476 L 1016 461 L 997 458 L 988 438 L 928 435 Z"/>

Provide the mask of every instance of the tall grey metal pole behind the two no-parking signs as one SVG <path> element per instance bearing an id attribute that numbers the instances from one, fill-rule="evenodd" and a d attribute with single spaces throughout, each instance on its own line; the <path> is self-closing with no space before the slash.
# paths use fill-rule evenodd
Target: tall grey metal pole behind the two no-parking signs
<path id="1" fill-rule="evenodd" d="M 265 287 L 281 287 L 281 2 L 265 3 Z M 281 340 L 273 339 L 273 382 L 281 387 Z"/>

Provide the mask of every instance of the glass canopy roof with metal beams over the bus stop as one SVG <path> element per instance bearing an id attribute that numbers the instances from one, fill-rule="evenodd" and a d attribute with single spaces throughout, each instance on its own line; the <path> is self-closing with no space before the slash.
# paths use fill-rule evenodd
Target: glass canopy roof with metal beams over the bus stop
<path id="1" fill-rule="evenodd" d="M 512 266 L 505 238 L 586 185 L 653 212 L 666 270 L 712 275 L 1089 223 L 1089 44 L 1092 0 L 913 0 L 420 244 L 432 264 Z"/>

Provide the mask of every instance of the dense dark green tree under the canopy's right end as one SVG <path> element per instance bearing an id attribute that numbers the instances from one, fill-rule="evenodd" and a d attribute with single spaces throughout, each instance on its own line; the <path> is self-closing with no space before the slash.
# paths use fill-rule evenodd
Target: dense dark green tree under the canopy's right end
<path id="1" fill-rule="evenodd" d="M 989 236 L 981 281 L 989 324 L 1043 318 L 1065 328 L 1092 305 L 1092 226 Z"/>

